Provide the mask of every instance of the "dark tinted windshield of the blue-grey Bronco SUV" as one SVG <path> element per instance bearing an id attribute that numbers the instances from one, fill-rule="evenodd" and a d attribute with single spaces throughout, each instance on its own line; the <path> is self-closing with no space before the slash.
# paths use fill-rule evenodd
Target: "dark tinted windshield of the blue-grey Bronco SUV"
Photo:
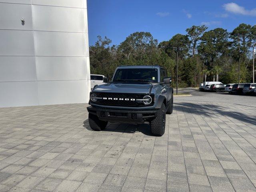
<path id="1" fill-rule="evenodd" d="M 113 82 L 158 82 L 156 68 L 129 68 L 118 69 Z"/>

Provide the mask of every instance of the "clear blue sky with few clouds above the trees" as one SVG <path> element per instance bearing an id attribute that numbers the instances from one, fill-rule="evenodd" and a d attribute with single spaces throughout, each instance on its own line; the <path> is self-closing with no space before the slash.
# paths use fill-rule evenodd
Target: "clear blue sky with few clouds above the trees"
<path id="1" fill-rule="evenodd" d="M 162 42 L 186 28 L 205 24 L 231 32 L 240 23 L 256 24 L 255 0 L 87 0 L 89 44 L 107 36 L 119 44 L 136 31 Z"/>

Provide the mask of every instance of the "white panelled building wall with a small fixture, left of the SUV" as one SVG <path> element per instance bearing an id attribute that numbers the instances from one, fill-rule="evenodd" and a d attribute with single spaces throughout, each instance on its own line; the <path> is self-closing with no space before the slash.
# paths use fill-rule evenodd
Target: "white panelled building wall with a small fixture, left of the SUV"
<path id="1" fill-rule="evenodd" d="M 88 102 L 89 62 L 86 0 L 0 0 L 0 107 Z"/>

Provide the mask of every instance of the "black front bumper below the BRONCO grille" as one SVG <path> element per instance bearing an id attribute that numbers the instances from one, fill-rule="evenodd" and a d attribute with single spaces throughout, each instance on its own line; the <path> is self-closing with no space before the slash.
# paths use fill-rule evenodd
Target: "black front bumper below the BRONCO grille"
<path id="1" fill-rule="evenodd" d="M 150 110 L 125 110 L 125 109 L 110 109 L 89 106 L 87 107 L 89 113 L 98 116 L 102 121 L 109 122 L 123 122 L 140 124 L 145 121 L 152 120 L 156 117 L 159 109 Z"/>

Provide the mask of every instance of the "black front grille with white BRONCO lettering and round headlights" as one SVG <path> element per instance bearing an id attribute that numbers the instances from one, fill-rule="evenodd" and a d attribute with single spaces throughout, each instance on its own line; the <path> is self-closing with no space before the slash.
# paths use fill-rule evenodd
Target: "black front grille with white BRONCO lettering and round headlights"
<path id="1" fill-rule="evenodd" d="M 152 106 L 154 105 L 154 95 L 152 94 L 131 94 L 131 93 L 99 93 L 94 92 L 99 98 L 112 98 L 112 100 L 106 99 L 98 99 L 96 102 L 90 100 L 92 104 L 104 105 L 104 106 L 124 106 L 124 107 L 144 107 L 144 106 Z M 136 101 L 136 99 L 143 99 L 145 95 L 150 95 L 152 97 L 152 103 L 149 105 L 145 105 L 142 101 Z M 114 100 L 114 98 L 118 98 L 118 100 Z M 123 98 L 124 100 L 119 100 L 119 98 Z M 125 100 L 129 99 L 129 100 Z M 130 100 L 135 99 L 135 100 Z"/>

